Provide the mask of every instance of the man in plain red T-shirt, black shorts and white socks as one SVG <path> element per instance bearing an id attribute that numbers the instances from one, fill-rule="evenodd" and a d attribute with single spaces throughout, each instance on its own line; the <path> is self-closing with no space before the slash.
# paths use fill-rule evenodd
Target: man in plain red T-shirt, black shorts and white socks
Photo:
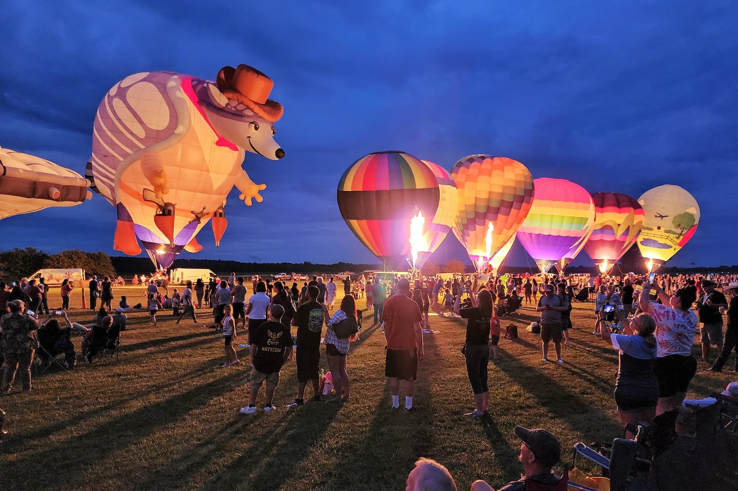
<path id="1" fill-rule="evenodd" d="M 418 360 L 423 360 L 423 317 L 418 304 L 409 298 L 410 281 L 402 278 L 397 295 L 384 302 L 382 324 L 387 338 L 387 359 L 384 376 L 390 379 L 392 407 L 400 407 L 400 380 L 405 381 L 405 409 L 413 409 Z"/>

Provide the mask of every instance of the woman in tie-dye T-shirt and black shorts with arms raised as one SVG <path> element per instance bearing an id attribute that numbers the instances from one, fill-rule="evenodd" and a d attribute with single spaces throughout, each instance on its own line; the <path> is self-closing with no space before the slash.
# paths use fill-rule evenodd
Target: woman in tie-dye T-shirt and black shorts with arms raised
<path id="1" fill-rule="evenodd" d="M 694 285 L 677 289 L 669 296 L 656 290 L 661 303 L 649 301 L 651 284 L 644 282 L 638 306 L 656 321 L 656 377 L 658 405 L 656 415 L 676 410 L 682 405 L 689 382 L 697 373 L 697 360 L 692 357 L 692 343 L 697 332 L 697 316 L 690 310 L 697 300 Z"/>

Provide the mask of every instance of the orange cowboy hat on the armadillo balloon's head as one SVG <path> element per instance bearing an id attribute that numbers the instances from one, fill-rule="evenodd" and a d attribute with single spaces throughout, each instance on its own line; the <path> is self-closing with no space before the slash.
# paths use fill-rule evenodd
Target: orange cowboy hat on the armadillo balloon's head
<path id="1" fill-rule="evenodd" d="M 221 93 L 249 107 L 259 116 L 274 123 L 282 117 L 282 105 L 268 99 L 274 81 L 253 66 L 224 66 L 215 79 Z"/>

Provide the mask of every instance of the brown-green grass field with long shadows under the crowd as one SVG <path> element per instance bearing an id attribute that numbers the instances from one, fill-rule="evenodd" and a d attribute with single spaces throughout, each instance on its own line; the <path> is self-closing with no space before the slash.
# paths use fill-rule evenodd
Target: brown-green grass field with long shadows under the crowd
<path id="1" fill-rule="evenodd" d="M 116 288 L 114 305 L 120 295 L 131 305 L 143 301 L 141 292 Z M 49 298 L 52 307 L 61 305 L 57 289 Z M 78 290 L 72 306 L 80 306 Z M 222 337 L 203 327 L 207 310 L 200 311 L 198 326 L 176 326 L 164 314 L 154 327 L 148 312 L 132 313 L 119 361 L 52 371 L 35 377 L 32 393 L 21 394 L 16 383 L 13 394 L 0 399 L 11 422 L 0 446 L 0 490 L 401 490 L 420 456 L 445 464 L 460 490 L 477 478 L 500 487 L 522 471 L 515 425 L 551 430 L 565 461 L 575 442 L 620 436 L 612 396 L 617 354 L 590 334 L 592 306 L 575 304 L 564 365 L 541 361 L 537 337 L 525 332 L 537 318 L 533 309 L 503 319 L 503 328 L 519 326 L 520 339 L 501 340 L 502 362 L 490 365 L 492 417 L 486 422 L 463 416 L 473 397 L 459 352 L 465 324 L 458 318 L 431 317 L 439 332 L 424 336 L 416 411 L 390 409 L 384 336 L 365 320 L 347 362 L 351 401 L 308 401 L 288 410 L 297 385 L 290 362 L 275 394 L 277 409 L 246 416 L 238 408 L 249 394 L 247 367 L 218 368 Z M 93 317 L 89 310 L 71 312 L 78 322 Z M 78 351 L 80 338 L 73 340 Z M 239 356 L 246 360 L 246 350 Z M 327 369 L 324 349 L 321 356 Z M 704 368 L 689 396 L 706 396 L 738 377 Z M 306 400 L 311 395 L 308 388 Z M 713 470 L 716 464 L 718 482 L 725 475 L 734 479 L 734 468 L 713 461 Z"/>

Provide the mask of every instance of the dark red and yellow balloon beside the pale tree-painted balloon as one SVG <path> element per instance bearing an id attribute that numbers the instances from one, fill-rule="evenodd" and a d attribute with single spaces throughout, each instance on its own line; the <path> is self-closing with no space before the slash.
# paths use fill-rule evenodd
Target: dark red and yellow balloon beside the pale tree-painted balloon
<path id="1" fill-rule="evenodd" d="M 584 250 L 600 272 L 613 269 L 635 244 L 644 224 L 644 210 L 635 198 L 622 193 L 594 193 L 595 224 Z"/>

